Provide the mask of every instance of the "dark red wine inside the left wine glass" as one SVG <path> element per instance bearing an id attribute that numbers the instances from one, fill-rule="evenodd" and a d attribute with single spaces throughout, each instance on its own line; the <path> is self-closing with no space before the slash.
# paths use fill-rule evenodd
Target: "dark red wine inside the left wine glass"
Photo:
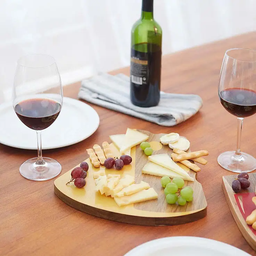
<path id="1" fill-rule="evenodd" d="M 60 109 L 59 102 L 46 98 L 23 100 L 14 107 L 20 121 L 33 130 L 49 127 L 58 117 Z"/>

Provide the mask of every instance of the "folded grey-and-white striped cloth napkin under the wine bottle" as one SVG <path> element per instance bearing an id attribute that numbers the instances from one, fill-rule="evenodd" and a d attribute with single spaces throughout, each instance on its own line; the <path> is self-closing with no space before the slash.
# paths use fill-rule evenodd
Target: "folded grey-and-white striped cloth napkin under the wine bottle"
<path id="1" fill-rule="evenodd" d="M 156 107 L 137 107 L 130 100 L 130 77 L 102 73 L 82 81 L 78 97 L 93 104 L 116 110 L 163 126 L 179 124 L 195 115 L 203 106 L 195 94 L 160 92 Z"/>

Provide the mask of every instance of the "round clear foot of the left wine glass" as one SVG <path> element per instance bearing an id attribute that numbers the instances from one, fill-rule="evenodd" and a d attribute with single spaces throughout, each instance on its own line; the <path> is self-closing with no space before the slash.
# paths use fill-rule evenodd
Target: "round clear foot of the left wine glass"
<path id="1" fill-rule="evenodd" d="M 36 164 L 37 158 L 31 158 L 25 161 L 19 167 L 20 174 L 29 180 L 50 180 L 61 172 L 61 165 L 56 160 L 44 157 L 44 164 Z"/>

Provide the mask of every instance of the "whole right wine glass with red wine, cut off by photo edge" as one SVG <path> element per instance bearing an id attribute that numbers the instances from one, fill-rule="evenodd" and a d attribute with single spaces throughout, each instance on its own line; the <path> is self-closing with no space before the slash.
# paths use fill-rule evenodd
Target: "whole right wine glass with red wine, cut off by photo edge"
<path id="1" fill-rule="evenodd" d="M 251 172 L 256 159 L 240 150 L 243 118 L 256 113 L 256 51 L 234 48 L 225 52 L 218 94 L 222 106 L 237 117 L 237 150 L 227 151 L 217 158 L 231 172 Z"/>

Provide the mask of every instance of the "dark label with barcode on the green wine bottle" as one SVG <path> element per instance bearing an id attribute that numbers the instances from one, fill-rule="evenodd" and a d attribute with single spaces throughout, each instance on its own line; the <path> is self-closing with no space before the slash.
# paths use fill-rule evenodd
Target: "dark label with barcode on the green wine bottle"
<path id="1" fill-rule="evenodd" d="M 138 51 L 132 50 L 131 54 L 131 82 L 134 84 L 142 85 L 148 84 L 148 56 L 144 53 L 144 56 L 138 57 Z M 140 52 L 141 53 L 141 52 Z"/>

